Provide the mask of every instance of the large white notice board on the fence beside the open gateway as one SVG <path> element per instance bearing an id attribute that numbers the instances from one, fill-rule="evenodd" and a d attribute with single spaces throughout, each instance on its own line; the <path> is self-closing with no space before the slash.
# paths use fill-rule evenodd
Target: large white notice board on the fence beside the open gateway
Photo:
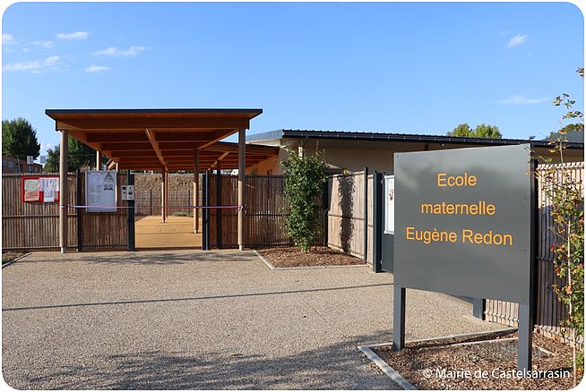
<path id="1" fill-rule="evenodd" d="M 85 173 L 86 212 L 116 212 L 116 171 Z"/>

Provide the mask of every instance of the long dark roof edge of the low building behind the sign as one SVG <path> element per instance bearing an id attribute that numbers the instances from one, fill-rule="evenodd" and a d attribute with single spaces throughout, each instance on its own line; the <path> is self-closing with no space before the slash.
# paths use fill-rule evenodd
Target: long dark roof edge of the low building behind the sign
<path id="1" fill-rule="evenodd" d="M 383 132 L 347 132 L 347 131 L 308 131 L 308 130 L 277 130 L 271 132 L 255 133 L 246 136 L 246 141 L 275 141 L 280 139 L 319 139 L 340 141 L 410 141 L 453 143 L 469 145 L 512 145 L 530 144 L 532 148 L 550 148 L 549 141 L 535 141 L 522 139 L 487 139 L 464 138 L 441 135 L 418 135 L 409 133 L 383 133 Z M 569 149 L 584 149 L 582 142 L 568 142 Z"/>

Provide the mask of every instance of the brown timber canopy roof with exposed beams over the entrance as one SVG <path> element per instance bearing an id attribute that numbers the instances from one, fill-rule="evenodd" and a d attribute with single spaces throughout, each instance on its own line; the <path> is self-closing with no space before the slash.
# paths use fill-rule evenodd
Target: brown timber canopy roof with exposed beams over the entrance
<path id="1" fill-rule="evenodd" d="M 241 129 L 262 109 L 47 109 L 56 130 L 118 163 L 119 169 L 193 170 L 238 166 L 237 143 L 220 140 Z M 246 167 L 278 154 L 277 148 L 246 146 Z"/>

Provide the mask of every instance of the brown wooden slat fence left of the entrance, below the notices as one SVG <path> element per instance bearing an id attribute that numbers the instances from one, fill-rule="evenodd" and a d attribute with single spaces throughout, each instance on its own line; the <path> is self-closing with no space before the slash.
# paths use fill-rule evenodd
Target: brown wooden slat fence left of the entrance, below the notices
<path id="1" fill-rule="evenodd" d="M 21 178 L 30 174 L 2 175 L 2 248 L 4 251 L 58 251 L 59 203 L 24 203 L 21 200 Z M 79 188 L 76 174 L 67 175 L 67 203 L 84 204 L 84 186 Z M 84 183 L 81 173 L 80 183 Z M 125 174 L 118 174 L 118 185 L 125 183 Z M 120 192 L 120 186 L 118 186 Z M 118 205 L 123 205 L 118 193 Z M 82 229 L 78 236 L 78 218 Z M 86 213 L 84 209 L 68 209 L 68 249 L 127 249 L 127 211 Z"/>

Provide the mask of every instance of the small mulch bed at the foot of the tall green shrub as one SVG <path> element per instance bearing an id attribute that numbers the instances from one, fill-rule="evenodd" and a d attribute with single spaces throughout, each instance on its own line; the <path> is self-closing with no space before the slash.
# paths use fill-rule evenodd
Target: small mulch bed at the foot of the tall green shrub
<path id="1" fill-rule="evenodd" d="M 365 265 L 364 260 L 325 246 L 312 248 L 308 253 L 296 247 L 259 249 L 258 252 L 273 267 L 279 268 Z"/>

